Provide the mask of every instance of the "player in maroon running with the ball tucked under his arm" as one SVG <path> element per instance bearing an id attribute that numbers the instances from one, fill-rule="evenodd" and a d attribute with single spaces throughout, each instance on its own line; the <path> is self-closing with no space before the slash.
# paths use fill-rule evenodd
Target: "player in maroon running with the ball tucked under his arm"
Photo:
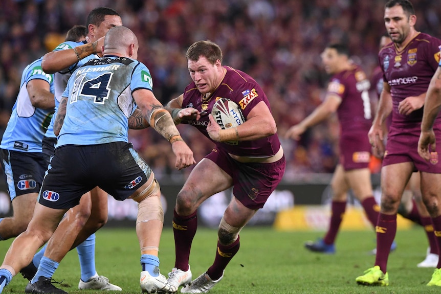
<path id="1" fill-rule="evenodd" d="M 168 276 L 172 292 L 185 285 L 181 293 L 205 293 L 224 277 L 224 269 L 239 250 L 240 230 L 263 207 L 285 170 L 283 149 L 266 95 L 252 77 L 223 66 L 222 57 L 222 50 L 211 41 L 193 43 L 186 54 L 193 82 L 166 107 L 175 123 L 196 127 L 216 144 L 191 171 L 176 200 L 175 263 Z M 240 106 L 245 123 L 236 128 L 220 128 L 211 111 L 221 97 Z M 195 112 L 185 115 L 188 110 Z M 219 223 L 214 263 L 191 281 L 188 261 L 197 228 L 197 208 L 213 194 L 230 187 L 233 197 Z"/>

